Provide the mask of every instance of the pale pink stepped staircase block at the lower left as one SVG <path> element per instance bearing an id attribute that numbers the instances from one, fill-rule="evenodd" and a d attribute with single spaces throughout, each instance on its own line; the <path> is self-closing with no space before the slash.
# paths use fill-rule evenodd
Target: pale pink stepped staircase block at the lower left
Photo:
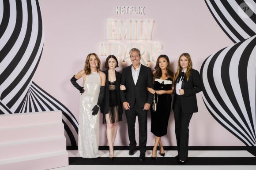
<path id="1" fill-rule="evenodd" d="M 68 166 L 61 111 L 0 115 L 0 170 Z"/>

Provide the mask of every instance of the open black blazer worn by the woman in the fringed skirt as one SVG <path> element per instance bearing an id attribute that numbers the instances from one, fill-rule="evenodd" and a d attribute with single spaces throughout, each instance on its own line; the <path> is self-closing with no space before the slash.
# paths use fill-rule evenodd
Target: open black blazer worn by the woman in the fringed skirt
<path id="1" fill-rule="evenodd" d="M 109 70 L 105 70 L 104 73 L 106 75 L 106 83 L 105 83 L 105 95 L 101 105 L 101 112 L 105 115 L 109 112 Z M 121 73 L 116 72 L 116 82 L 117 82 L 117 105 L 118 105 L 118 114 L 123 113 L 123 108 L 120 102 L 120 81 L 121 81 Z"/>

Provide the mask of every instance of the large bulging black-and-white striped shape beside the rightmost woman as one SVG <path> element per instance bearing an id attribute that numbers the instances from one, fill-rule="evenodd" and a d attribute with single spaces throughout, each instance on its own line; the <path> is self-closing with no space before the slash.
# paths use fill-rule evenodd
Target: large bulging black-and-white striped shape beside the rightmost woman
<path id="1" fill-rule="evenodd" d="M 211 115 L 247 146 L 256 146 L 256 36 L 203 63 L 203 101 Z"/>

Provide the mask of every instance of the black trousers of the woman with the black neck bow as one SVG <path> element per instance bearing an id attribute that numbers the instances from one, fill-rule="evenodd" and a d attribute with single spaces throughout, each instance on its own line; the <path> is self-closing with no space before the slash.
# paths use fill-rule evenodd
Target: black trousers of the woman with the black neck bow
<path id="1" fill-rule="evenodd" d="M 175 134 L 179 159 L 186 161 L 188 158 L 188 133 L 189 122 L 193 113 L 184 113 L 181 108 L 181 96 L 176 95 L 174 106 Z"/>

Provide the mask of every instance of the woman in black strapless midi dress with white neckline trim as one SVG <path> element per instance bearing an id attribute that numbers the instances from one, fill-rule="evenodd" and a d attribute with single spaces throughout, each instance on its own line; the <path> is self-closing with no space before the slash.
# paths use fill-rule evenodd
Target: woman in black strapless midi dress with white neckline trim
<path id="1" fill-rule="evenodd" d="M 160 55 L 157 58 L 156 71 L 153 72 L 154 89 L 147 88 L 151 94 L 154 94 L 157 102 L 157 109 L 154 111 L 151 107 L 151 132 L 155 135 L 154 148 L 151 159 L 157 158 L 157 146 L 159 145 L 160 155 L 165 156 L 161 137 L 167 134 L 169 116 L 171 112 L 171 103 L 174 87 L 174 74 L 170 68 L 170 62 L 167 55 Z"/>

